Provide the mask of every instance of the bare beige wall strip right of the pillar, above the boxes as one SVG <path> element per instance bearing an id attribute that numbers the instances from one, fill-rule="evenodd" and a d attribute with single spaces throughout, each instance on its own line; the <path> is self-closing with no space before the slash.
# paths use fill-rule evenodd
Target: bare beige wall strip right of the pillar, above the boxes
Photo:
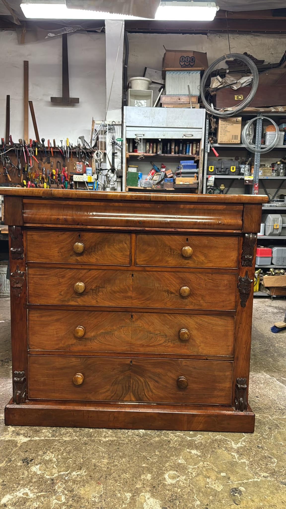
<path id="1" fill-rule="evenodd" d="M 192 49 L 208 54 L 211 64 L 224 53 L 229 53 L 227 34 L 128 34 L 128 76 L 141 76 L 145 67 L 161 70 L 164 46 L 166 49 Z M 280 44 L 278 44 L 278 42 Z M 286 40 L 285 40 L 286 42 Z M 251 53 L 266 62 L 279 62 L 284 52 L 278 37 L 252 34 L 230 34 L 231 51 Z M 220 64 L 223 67 L 223 63 Z"/>

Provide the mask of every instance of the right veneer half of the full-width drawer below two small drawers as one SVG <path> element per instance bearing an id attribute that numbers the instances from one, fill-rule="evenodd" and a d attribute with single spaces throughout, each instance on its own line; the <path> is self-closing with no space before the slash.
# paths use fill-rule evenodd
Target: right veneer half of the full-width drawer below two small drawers
<path id="1" fill-rule="evenodd" d="M 235 310 L 236 274 L 134 271 L 132 305 Z M 187 296 L 180 294 L 189 293 Z"/>

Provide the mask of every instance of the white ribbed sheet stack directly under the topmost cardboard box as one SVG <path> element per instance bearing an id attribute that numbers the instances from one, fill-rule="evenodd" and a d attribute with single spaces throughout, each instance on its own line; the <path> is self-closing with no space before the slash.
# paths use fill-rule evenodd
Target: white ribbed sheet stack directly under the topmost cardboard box
<path id="1" fill-rule="evenodd" d="M 201 71 L 166 71 L 166 95 L 199 95 Z"/>

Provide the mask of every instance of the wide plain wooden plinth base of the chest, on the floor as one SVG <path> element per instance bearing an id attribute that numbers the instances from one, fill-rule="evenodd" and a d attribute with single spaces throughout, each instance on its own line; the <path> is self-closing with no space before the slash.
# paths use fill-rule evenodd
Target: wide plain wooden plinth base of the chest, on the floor
<path id="1" fill-rule="evenodd" d="M 5 407 L 8 426 L 63 426 L 132 430 L 178 430 L 252 433 L 255 416 L 231 407 L 154 405 L 147 403 L 73 403 L 28 401 Z"/>

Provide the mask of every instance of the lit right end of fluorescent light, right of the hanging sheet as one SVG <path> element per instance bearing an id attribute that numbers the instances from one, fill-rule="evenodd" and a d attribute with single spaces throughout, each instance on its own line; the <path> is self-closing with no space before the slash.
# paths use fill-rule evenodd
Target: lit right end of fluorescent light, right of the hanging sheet
<path id="1" fill-rule="evenodd" d="M 155 19 L 162 21 L 212 21 L 218 9 L 215 2 L 161 2 Z"/>

